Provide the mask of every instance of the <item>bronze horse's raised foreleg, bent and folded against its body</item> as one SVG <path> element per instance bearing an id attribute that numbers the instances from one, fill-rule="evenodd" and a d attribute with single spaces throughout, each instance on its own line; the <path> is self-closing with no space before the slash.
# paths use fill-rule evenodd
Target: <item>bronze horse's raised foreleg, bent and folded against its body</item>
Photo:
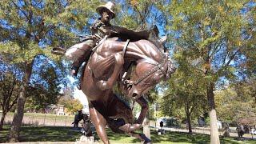
<path id="1" fill-rule="evenodd" d="M 99 81 L 97 82 L 97 86 L 101 89 L 101 90 L 107 90 L 107 89 L 111 89 L 114 86 L 114 82 L 117 81 L 118 79 L 118 75 L 120 73 L 120 71 L 122 70 L 122 66 L 124 63 L 124 59 L 122 57 L 122 54 L 114 54 L 114 71 L 113 74 L 110 76 L 110 78 L 108 78 L 107 81 Z"/>

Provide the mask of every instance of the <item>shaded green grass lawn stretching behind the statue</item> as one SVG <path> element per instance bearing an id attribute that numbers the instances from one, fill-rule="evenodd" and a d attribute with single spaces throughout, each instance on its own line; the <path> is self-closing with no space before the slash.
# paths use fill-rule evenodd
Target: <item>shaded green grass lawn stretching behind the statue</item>
<path id="1" fill-rule="evenodd" d="M 0 131 L 0 142 L 6 142 L 10 126 L 4 126 Z M 107 134 L 111 143 L 140 143 L 136 138 L 131 138 L 126 134 L 115 134 L 108 130 Z M 80 134 L 71 130 L 71 127 L 64 126 L 23 126 L 21 130 L 21 142 L 75 142 Z M 95 134 L 95 139 L 101 142 Z M 164 135 L 158 135 L 156 130 L 151 130 L 151 139 L 154 143 L 210 143 L 210 136 L 206 134 L 186 134 L 181 132 L 167 131 Z M 256 141 L 236 141 L 234 138 L 221 138 L 221 143 L 249 143 Z"/>

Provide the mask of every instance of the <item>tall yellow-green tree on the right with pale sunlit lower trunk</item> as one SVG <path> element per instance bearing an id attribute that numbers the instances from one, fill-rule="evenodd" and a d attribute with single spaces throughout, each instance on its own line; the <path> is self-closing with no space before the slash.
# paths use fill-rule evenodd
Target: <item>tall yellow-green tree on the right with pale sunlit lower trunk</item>
<path id="1" fill-rule="evenodd" d="M 254 3 L 254 2 L 253 2 Z M 210 142 L 219 143 L 214 102 L 216 82 L 230 78 L 237 64 L 255 51 L 255 6 L 250 1 L 172 1 L 170 24 L 175 45 L 203 75 L 210 106 Z"/>

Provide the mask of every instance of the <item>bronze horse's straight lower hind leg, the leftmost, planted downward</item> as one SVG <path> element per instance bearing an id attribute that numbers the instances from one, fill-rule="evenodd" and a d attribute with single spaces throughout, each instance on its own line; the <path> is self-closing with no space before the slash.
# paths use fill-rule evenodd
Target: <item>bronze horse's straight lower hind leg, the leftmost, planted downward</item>
<path id="1" fill-rule="evenodd" d="M 90 106 L 89 111 L 90 120 L 95 126 L 98 137 L 102 139 L 104 144 L 109 144 L 110 142 L 106 134 L 106 119 L 93 106 Z"/>

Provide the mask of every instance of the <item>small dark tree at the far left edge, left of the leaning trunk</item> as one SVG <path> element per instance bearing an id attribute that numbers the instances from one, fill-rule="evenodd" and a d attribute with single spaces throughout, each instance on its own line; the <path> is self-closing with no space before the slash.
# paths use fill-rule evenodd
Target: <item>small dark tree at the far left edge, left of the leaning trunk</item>
<path id="1" fill-rule="evenodd" d="M 7 71 L 0 74 L 0 104 L 2 107 L 0 130 L 2 130 L 6 114 L 15 106 L 18 99 L 20 82 L 17 76 L 18 74 L 15 74 L 14 71 Z"/>

